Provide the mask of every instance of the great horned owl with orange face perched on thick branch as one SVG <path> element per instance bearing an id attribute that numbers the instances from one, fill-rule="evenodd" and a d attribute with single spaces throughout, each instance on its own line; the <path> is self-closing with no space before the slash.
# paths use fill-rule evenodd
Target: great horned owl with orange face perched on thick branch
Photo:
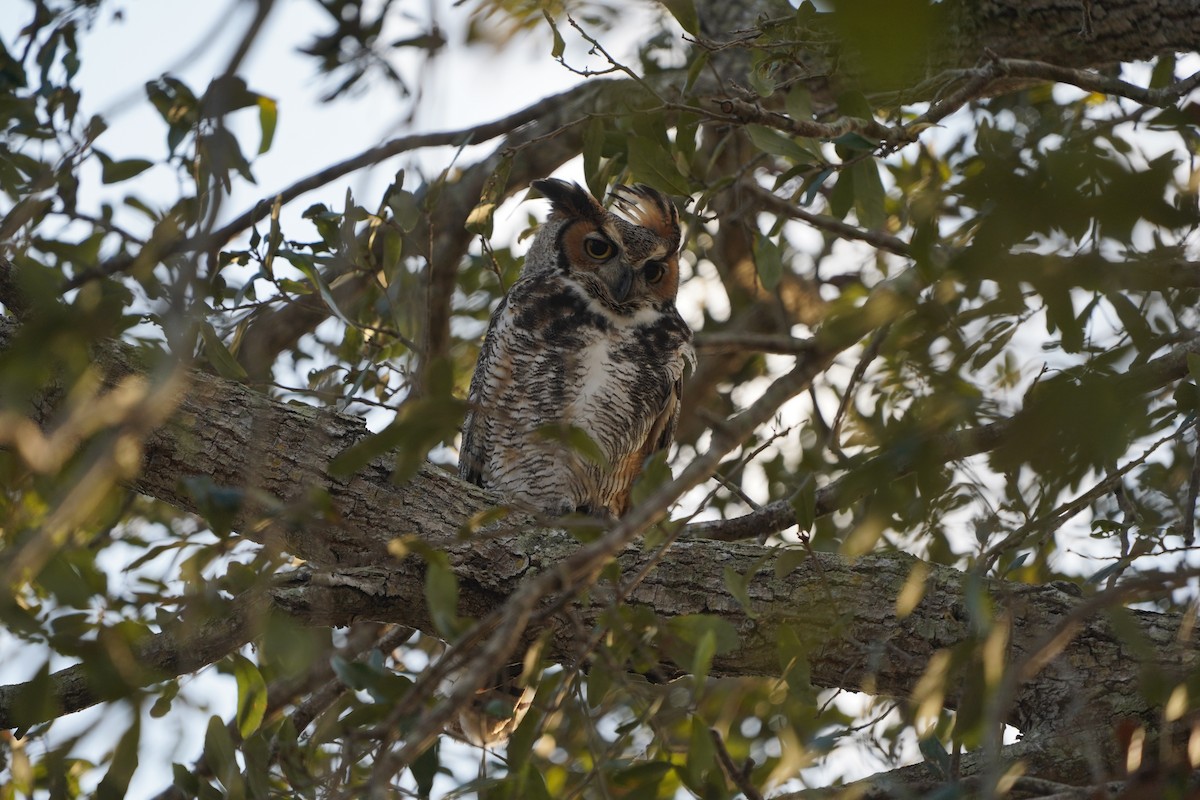
<path id="1" fill-rule="evenodd" d="M 547 515 L 619 517 L 646 458 L 671 444 L 692 357 L 674 305 L 679 215 L 641 184 L 613 188 L 616 212 L 576 184 L 533 187 L 552 211 L 492 314 L 458 473 Z M 560 435 L 575 428 L 599 453 Z"/>

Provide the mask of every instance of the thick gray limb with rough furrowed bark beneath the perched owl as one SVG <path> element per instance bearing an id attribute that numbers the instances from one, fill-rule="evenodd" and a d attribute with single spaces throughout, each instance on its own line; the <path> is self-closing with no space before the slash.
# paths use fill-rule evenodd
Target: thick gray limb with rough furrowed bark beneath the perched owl
<path id="1" fill-rule="evenodd" d="M 0 320 L 0 349 L 11 333 L 12 325 Z M 103 360 L 112 374 L 133 368 L 121 349 L 110 349 Z M 242 535 L 282 543 L 310 565 L 271 590 L 275 604 L 316 625 L 371 619 L 433 630 L 425 608 L 424 563 L 389 555 L 388 545 L 397 536 L 418 535 L 449 554 L 460 581 L 460 613 L 468 616 L 496 608 L 528 576 L 560 563 L 576 548 L 568 534 L 533 525 L 461 537 L 463 527 L 490 500 L 432 465 L 401 485 L 390 480 L 386 459 L 347 479 L 331 477 L 330 459 L 364 434 L 355 417 L 278 403 L 242 385 L 192 373 L 175 415 L 146 441 L 134 487 L 188 511 L 197 510 L 181 488 L 188 476 L 246 491 L 239 517 Z M 331 515 L 304 513 L 314 491 L 328 493 Z M 264 518 L 274 522 L 246 524 Z M 628 579 L 652 557 L 638 546 L 626 548 L 619 557 L 622 576 Z M 898 616 L 896 597 L 918 564 L 899 553 L 859 559 L 810 554 L 791 572 L 776 575 L 772 553 L 763 547 L 688 539 L 666 552 L 625 602 L 662 618 L 704 613 L 730 621 L 739 646 L 718 656 L 716 676 L 778 675 L 780 632 L 791 628 L 809 652 L 815 685 L 904 697 L 912 693 L 936 651 L 974 636 L 966 610 L 971 578 L 952 569 L 925 565 L 924 599 L 911 614 Z M 726 570 L 746 576 L 749 606 L 726 585 Z M 1109 732 L 1117 721 L 1153 726 L 1158 717 L 1158 709 L 1136 691 L 1139 676 L 1152 669 L 1170 681 L 1200 657 L 1195 643 L 1180 636 L 1178 614 L 1130 612 L 1138 636 L 1129 640 L 1100 613 L 1104 599 L 1084 600 L 1072 585 L 996 581 L 979 585 L 996 616 L 1010 622 L 1010 664 L 1028 663 L 1052 634 L 1069 634 L 1056 657 L 1012 687 L 1006 718 L 1030 738 L 1022 752 L 1034 774 L 1088 781 L 1093 757 L 1112 756 Z M 570 613 L 584 627 L 592 626 L 612 596 L 612 584 L 602 582 Z M 564 614 L 547 614 L 538 624 L 551 632 L 551 657 L 563 662 L 581 657 L 580 628 Z M 203 652 L 190 643 L 196 652 L 186 661 L 163 657 L 163 670 L 198 668 L 197 657 L 215 660 L 245 639 L 215 640 L 223 644 Z M 64 676 L 55 680 L 59 688 L 65 686 Z M 8 710 L 4 702 L 19 690 L 0 688 L 0 709 Z M 62 708 L 79 705 L 78 698 L 65 698 Z M 1038 742 L 1043 746 L 1034 746 Z"/>

